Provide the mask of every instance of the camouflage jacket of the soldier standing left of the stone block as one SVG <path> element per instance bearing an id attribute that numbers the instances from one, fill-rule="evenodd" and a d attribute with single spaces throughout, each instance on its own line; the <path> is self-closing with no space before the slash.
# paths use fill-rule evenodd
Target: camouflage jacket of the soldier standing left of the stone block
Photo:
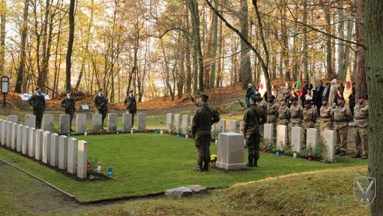
<path id="1" fill-rule="evenodd" d="M 211 125 L 219 121 L 217 110 L 204 103 L 201 104 L 201 107 L 196 108 L 194 112 L 196 114 L 194 114 L 193 123 L 191 124 L 191 134 L 193 137 L 211 134 Z"/>

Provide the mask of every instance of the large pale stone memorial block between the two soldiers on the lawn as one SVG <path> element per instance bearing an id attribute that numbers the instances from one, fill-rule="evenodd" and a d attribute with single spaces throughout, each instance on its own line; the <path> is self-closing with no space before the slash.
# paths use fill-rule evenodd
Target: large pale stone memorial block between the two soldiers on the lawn
<path id="1" fill-rule="evenodd" d="M 216 162 L 218 168 L 226 170 L 246 168 L 243 139 L 245 139 L 243 134 L 233 132 L 219 134 Z"/>

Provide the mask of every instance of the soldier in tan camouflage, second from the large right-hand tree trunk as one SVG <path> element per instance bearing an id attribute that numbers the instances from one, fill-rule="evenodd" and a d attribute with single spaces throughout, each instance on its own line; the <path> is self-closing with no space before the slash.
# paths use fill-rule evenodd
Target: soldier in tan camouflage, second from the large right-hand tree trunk
<path id="1" fill-rule="evenodd" d="M 334 110 L 334 128 L 336 136 L 335 154 L 345 156 L 347 151 L 348 122 L 353 119 L 350 108 L 345 106 L 345 99 L 338 97 L 338 106 Z"/>

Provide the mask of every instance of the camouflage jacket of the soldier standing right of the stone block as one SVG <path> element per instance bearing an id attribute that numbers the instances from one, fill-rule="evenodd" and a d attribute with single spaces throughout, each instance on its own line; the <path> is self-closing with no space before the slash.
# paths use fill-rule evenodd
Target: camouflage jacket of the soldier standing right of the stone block
<path id="1" fill-rule="evenodd" d="M 266 114 L 257 106 L 257 104 L 250 104 L 250 107 L 245 110 L 243 116 L 243 134 L 255 133 L 260 131 L 260 125 L 265 124 Z"/>

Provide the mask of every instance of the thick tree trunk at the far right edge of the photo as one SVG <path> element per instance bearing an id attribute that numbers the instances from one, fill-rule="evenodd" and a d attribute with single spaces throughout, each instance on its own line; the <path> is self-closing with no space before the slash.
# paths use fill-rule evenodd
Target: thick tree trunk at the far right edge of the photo
<path id="1" fill-rule="evenodd" d="M 360 18 L 360 17 L 359 17 Z M 365 63 L 369 93 L 368 174 L 376 179 L 376 198 L 370 207 L 372 216 L 383 212 L 383 1 L 367 0 L 365 4 Z"/>

